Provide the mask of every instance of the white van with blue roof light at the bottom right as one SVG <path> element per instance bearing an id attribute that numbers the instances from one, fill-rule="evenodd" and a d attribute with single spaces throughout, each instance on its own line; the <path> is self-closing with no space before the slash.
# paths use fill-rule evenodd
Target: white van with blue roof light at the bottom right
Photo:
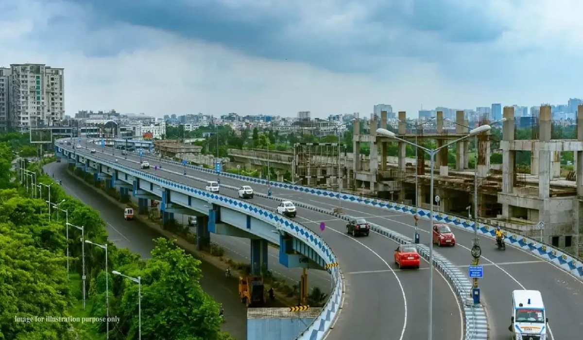
<path id="1" fill-rule="evenodd" d="M 545 304 L 538 290 L 514 290 L 510 331 L 512 339 L 546 340 Z"/>

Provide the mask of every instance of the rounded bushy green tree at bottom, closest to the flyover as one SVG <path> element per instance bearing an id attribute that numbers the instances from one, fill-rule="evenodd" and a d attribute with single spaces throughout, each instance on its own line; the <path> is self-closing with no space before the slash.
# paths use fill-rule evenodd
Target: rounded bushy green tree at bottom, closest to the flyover
<path id="1" fill-rule="evenodd" d="M 139 271 L 129 275 L 142 277 L 142 339 L 219 340 L 222 320 L 219 305 L 203 292 L 200 261 L 178 248 L 175 241 L 157 239 L 152 258 Z M 129 318 L 136 314 L 138 287 L 126 286 L 118 314 Z M 127 338 L 136 338 L 134 321 Z"/>

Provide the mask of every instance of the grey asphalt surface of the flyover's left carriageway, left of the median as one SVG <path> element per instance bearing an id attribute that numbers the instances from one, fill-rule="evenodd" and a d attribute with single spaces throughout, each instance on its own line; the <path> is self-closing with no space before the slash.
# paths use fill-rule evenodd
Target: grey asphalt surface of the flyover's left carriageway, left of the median
<path id="1" fill-rule="evenodd" d="M 107 152 L 111 152 L 111 149 Z M 125 160 L 120 152 L 115 151 L 115 154 L 113 156 L 111 153 L 98 152 L 96 156 L 107 160 L 118 159 L 120 164 L 139 169 L 139 157 L 128 155 L 128 160 Z M 145 171 L 193 187 L 204 188 L 203 183 L 182 176 L 181 167 L 164 164 L 164 170 L 177 173 L 154 170 L 153 167 Z M 199 171 L 191 172 L 192 176 L 203 177 L 201 176 L 203 173 Z M 209 178 L 213 179 L 212 176 Z M 221 182 L 230 184 L 224 178 Z M 241 183 L 233 181 L 231 185 L 241 185 Z M 220 194 L 237 197 L 237 192 L 232 190 L 221 190 Z M 293 199 L 297 198 L 293 197 Z M 272 209 L 278 205 L 276 201 L 259 197 L 250 201 Z M 429 271 L 427 271 L 426 263 L 422 263 L 422 269 L 419 271 L 399 271 L 394 265 L 394 250 L 397 244 L 380 234 L 373 233 L 370 237 L 354 239 L 345 234 L 346 223 L 342 220 L 301 208 L 298 209 L 296 220 L 321 234 L 326 243 L 335 251 L 340 267 L 346 274 L 344 306 L 334 329 L 329 334 L 329 339 L 427 338 Z M 319 230 L 319 223 L 322 221 L 326 223 L 324 232 Z M 215 236 L 213 234 L 211 237 Z M 458 300 L 447 281 L 439 274 L 434 275 L 433 296 L 434 339 L 461 339 L 463 320 Z"/>

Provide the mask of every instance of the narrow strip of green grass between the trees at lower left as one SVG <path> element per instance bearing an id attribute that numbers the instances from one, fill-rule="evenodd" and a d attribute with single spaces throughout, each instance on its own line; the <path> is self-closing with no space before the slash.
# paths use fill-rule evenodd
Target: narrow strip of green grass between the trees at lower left
<path id="1" fill-rule="evenodd" d="M 88 282 L 86 282 L 86 284 L 88 284 Z M 93 309 L 93 301 L 86 295 L 85 310 L 83 310 L 82 290 L 79 289 L 82 285 L 83 283 L 79 274 L 69 274 L 69 289 L 71 289 L 73 295 L 73 306 L 69 310 L 69 314 L 71 314 L 72 317 L 79 318 L 80 320 L 82 320 L 84 317 L 91 317 L 90 311 Z M 82 323 L 81 321 L 73 322 L 72 324 L 75 330 L 82 330 L 82 333 L 85 333 L 83 334 L 83 337 L 80 337 L 81 339 L 106 339 L 106 335 L 100 333 L 97 330 L 98 324 Z"/>

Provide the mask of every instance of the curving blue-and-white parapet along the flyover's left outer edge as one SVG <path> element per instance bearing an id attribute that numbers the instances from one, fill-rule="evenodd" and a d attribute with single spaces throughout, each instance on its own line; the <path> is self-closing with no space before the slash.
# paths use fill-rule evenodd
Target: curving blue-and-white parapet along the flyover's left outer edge
<path id="1" fill-rule="evenodd" d="M 260 206 L 250 204 L 247 201 L 240 201 L 228 196 L 223 196 L 219 194 L 213 194 L 212 192 L 204 191 L 198 188 L 191 187 L 182 183 L 177 183 L 163 176 L 154 176 L 150 173 L 145 173 L 140 170 L 136 170 L 132 167 L 122 166 L 119 163 L 111 162 L 109 160 L 99 159 L 96 156 L 92 156 L 87 152 L 80 152 L 79 149 L 68 148 L 63 145 L 56 145 L 57 149 L 65 149 L 71 153 L 76 153 L 82 156 L 84 159 L 93 160 L 104 164 L 111 169 L 123 171 L 125 173 L 131 174 L 136 178 L 142 178 L 143 180 L 156 183 L 163 188 L 170 188 L 182 194 L 197 197 L 209 203 L 214 203 L 220 206 L 224 206 L 229 209 L 234 209 L 245 213 L 246 215 L 253 216 L 259 220 L 269 223 L 276 227 L 278 230 L 283 230 L 286 233 L 296 237 L 299 240 L 304 241 L 308 244 L 316 253 L 326 262 L 326 264 L 336 263 L 336 256 L 333 254 L 332 248 L 326 244 L 326 242 L 321 239 L 316 233 L 312 232 L 310 229 L 305 228 L 297 222 L 291 219 L 285 218 L 284 216 L 274 214 Z M 55 150 L 56 152 L 57 150 Z M 340 311 L 340 304 L 344 296 L 344 277 L 340 271 L 340 267 L 331 267 L 328 272 L 332 276 L 332 282 L 334 287 L 332 293 L 328 298 L 325 306 L 322 307 L 321 313 L 317 318 L 312 321 L 310 325 L 306 328 L 304 332 L 300 334 L 297 339 L 301 340 L 321 340 L 324 339 L 326 334 L 328 334 L 331 329 L 333 321 L 338 317 Z"/>

